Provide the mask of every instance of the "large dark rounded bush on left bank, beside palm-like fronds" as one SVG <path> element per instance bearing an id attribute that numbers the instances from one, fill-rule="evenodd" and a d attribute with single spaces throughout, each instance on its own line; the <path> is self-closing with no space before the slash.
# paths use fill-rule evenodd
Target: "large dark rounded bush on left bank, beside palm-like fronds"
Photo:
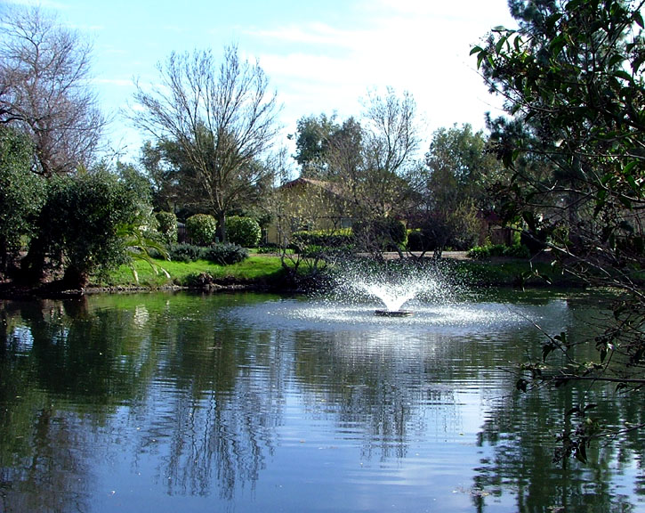
<path id="1" fill-rule="evenodd" d="M 119 228 L 135 224 L 140 201 L 107 170 L 52 176 L 39 220 L 39 239 L 65 269 L 73 288 L 91 273 L 107 273 L 125 262 Z"/>

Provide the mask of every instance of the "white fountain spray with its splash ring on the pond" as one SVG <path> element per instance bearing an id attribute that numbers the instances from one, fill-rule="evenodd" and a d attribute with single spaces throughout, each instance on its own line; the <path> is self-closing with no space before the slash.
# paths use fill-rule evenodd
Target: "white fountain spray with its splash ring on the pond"
<path id="1" fill-rule="evenodd" d="M 484 333 L 527 319 L 527 314 L 518 314 L 518 306 L 510 311 L 504 303 L 482 302 L 461 277 L 450 273 L 449 264 L 389 262 L 336 270 L 325 290 L 235 308 L 235 315 L 262 328 L 288 325 L 325 332 L 345 342 L 355 333 L 362 337 L 367 332 L 376 345 L 391 340 L 409 345 L 437 333 Z"/>

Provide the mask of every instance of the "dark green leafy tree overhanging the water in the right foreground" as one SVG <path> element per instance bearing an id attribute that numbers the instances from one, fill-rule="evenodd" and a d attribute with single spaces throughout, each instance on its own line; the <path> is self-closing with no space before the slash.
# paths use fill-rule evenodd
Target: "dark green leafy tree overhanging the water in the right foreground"
<path id="1" fill-rule="evenodd" d="M 544 362 L 529 362 L 518 387 L 547 379 L 645 385 L 645 88 L 643 2 L 513 1 L 518 30 L 497 28 L 473 48 L 491 90 L 512 118 L 492 120 L 499 156 L 511 171 L 507 213 L 544 240 L 569 273 L 623 295 L 596 340 L 598 359 L 579 362 L 566 333 L 549 336 Z M 538 218 L 539 217 L 539 218 Z M 553 353 L 567 366 L 544 371 Z M 585 460 L 599 435 L 588 405 L 563 436 L 563 454 Z"/>

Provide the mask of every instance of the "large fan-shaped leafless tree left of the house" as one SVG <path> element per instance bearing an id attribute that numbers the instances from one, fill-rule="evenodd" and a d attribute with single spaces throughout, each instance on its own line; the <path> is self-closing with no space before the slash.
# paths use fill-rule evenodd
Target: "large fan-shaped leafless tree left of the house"
<path id="1" fill-rule="evenodd" d="M 172 53 L 157 69 L 161 82 L 139 84 L 133 110 L 136 126 L 157 140 L 177 142 L 201 185 L 208 208 L 226 240 L 226 215 L 240 206 L 267 172 L 256 161 L 278 132 L 276 94 L 255 63 L 240 61 L 238 48 L 225 48 L 219 69 L 206 51 Z"/>

